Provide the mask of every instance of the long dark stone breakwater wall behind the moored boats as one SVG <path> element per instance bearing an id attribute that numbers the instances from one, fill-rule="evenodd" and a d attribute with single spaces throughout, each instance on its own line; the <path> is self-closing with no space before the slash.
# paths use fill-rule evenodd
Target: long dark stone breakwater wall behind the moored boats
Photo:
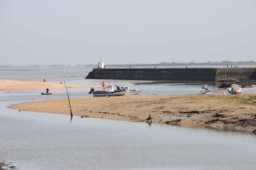
<path id="1" fill-rule="evenodd" d="M 236 81 L 256 79 L 256 68 L 93 69 L 86 79 Z"/>

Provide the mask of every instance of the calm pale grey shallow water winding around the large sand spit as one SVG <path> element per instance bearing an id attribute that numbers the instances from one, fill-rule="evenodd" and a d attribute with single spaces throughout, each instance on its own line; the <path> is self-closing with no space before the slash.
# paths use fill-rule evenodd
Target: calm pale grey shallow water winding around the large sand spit
<path id="1" fill-rule="evenodd" d="M 112 80 L 113 81 L 113 80 Z M 71 78 L 68 83 L 100 80 Z M 88 83 L 89 82 L 89 83 Z M 114 81 L 114 83 L 123 81 Z M 199 93 L 201 84 L 135 84 L 144 94 Z M 212 88 L 214 88 L 214 84 Z M 86 97 L 88 89 L 69 89 L 71 98 Z M 69 115 L 18 112 L 6 105 L 33 99 L 66 98 L 39 91 L 0 93 L 0 160 L 20 170 L 254 170 L 256 136 L 202 128 L 110 121 Z"/>

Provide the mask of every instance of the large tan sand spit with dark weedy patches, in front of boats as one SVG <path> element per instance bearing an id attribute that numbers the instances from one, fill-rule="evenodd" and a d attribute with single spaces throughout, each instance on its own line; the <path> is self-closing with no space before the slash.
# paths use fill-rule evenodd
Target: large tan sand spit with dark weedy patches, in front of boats
<path id="1" fill-rule="evenodd" d="M 75 115 L 194 128 L 256 132 L 256 96 L 125 96 L 71 99 Z M 47 105 L 47 107 L 46 107 Z M 26 111 L 69 114 L 67 99 L 38 100 L 9 106 Z"/>

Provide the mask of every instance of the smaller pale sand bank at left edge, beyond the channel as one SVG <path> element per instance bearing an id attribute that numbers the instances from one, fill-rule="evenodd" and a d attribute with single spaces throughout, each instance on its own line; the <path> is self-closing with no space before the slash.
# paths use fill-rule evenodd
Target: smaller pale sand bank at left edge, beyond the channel
<path id="1" fill-rule="evenodd" d="M 67 84 L 68 88 L 95 87 L 95 85 L 74 85 Z M 19 91 L 19 90 L 46 90 L 62 89 L 65 85 L 55 82 L 44 81 L 18 81 L 9 79 L 0 79 L 0 91 Z"/>

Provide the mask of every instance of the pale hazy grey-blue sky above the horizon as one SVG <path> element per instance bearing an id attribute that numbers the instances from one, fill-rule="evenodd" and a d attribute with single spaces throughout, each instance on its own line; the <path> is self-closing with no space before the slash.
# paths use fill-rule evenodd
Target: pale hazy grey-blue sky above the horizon
<path id="1" fill-rule="evenodd" d="M 0 0 L 0 65 L 256 61 L 255 0 Z"/>

